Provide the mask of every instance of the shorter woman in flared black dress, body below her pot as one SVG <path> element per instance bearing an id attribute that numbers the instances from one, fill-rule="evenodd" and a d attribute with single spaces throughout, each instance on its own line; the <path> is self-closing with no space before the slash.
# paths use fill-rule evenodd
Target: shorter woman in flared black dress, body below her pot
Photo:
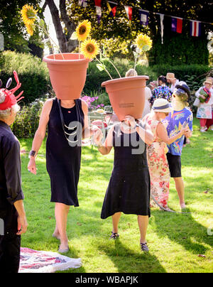
<path id="1" fill-rule="evenodd" d="M 102 144 L 102 132 L 94 135 L 94 141 L 103 155 L 114 147 L 114 169 L 102 207 L 102 219 L 112 217 L 113 229 L 110 239 L 119 237 L 121 212 L 138 215 L 141 233 L 141 250 L 148 251 L 146 230 L 150 217 L 150 178 L 146 159 L 146 144 L 153 135 L 145 126 L 131 117 L 113 126 Z M 145 144 L 146 143 L 146 144 Z"/>

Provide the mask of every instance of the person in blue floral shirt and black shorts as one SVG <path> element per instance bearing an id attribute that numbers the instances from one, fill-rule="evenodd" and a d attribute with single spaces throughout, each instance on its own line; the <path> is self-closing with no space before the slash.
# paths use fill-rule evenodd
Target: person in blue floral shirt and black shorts
<path id="1" fill-rule="evenodd" d="M 188 101 L 190 99 L 190 89 L 187 85 L 176 85 L 173 92 L 172 107 L 173 112 L 170 112 L 163 123 L 168 131 L 168 136 L 178 134 L 185 127 L 184 135 L 168 144 L 168 163 L 170 168 L 170 176 L 175 180 L 175 187 L 178 192 L 180 207 L 185 208 L 185 187 L 181 174 L 181 154 L 184 143 L 184 136 L 189 139 L 192 136 L 192 121 L 193 114 L 188 109 Z"/>

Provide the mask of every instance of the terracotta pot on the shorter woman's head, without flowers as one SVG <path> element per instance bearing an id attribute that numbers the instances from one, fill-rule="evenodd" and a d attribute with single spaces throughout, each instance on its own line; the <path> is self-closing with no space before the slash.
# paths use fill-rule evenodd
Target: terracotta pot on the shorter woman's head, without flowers
<path id="1" fill-rule="evenodd" d="M 132 116 L 140 119 L 145 104 L 145 87 L 148 76 L 122 77 L 120 79 L 102 82 L 109 94 L 111 106 L 119 121 Z"/>

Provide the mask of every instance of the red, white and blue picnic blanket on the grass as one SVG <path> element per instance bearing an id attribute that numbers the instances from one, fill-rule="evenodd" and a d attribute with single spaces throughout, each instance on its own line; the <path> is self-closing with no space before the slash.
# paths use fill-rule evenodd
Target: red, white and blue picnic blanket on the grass
<path id="1" fill-rule="evenodd" d="M 51 251 L 36 251 L 21 248 L 21 260 L 18 273 L 54 273 L 82 266 L 80 258 L 73 259 Z"/>

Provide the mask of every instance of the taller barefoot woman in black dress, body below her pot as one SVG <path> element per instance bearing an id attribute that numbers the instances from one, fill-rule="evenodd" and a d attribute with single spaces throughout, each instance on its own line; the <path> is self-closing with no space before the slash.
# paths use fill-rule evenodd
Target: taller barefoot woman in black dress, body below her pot
<path id="1" fill-rule="evenodd" d="M 80 176 L 81 139 L 89 137 L 93 131 L 88 128 L 87 104 L 81 99 L 48 99 L 40 115 L 38 130 L 33 139 L 28 170 L 36 175 L 35 156 L 45 138 L 47 170 L 51 183 L 51 202 L 55 202 L 55 232 L 60 239 L 59 250 L 69 250 L 67 239 L 67 215 L 70 205 L 79 206 L 77 184 Z"/>

